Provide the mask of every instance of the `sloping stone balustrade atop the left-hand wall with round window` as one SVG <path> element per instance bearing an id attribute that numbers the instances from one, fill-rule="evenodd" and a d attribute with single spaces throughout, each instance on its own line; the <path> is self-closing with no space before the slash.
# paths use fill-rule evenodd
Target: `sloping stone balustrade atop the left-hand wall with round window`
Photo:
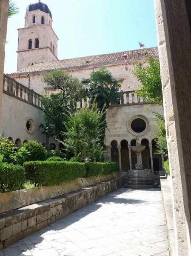
<path id="1" fill-rule="evenodd" d="M 43 108 L 43 105 L 40 102 L 40 94 L 35 93 L 34 90 L 29 89 L 6 75 L 4 75 L 3 79 L 3 93 L 22 101 L 26 101 L 27 103 L 39 108 Z"/>

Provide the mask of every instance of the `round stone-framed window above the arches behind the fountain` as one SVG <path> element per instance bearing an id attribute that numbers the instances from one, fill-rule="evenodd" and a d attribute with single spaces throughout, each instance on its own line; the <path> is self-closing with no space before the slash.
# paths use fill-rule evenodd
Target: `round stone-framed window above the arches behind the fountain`
<path id="1" fill-rule="evenodd" d="M 127 122 L 127 129 L 135 136 L 145 135 L 149 129 L 148 120 L 142 115 L 132 116 Z"/>

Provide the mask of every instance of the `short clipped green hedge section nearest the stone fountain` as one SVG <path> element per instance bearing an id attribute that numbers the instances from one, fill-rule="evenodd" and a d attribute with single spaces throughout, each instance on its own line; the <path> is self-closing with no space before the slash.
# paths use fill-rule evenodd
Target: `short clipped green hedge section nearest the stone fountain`
<path id="1" fill-rule="evenodd" d="M 119 165 L 117 162 L 105 163 L 86 163 L 86 177 L 95 175 L 107 175 L 111 172 L 117 172 Z"/>

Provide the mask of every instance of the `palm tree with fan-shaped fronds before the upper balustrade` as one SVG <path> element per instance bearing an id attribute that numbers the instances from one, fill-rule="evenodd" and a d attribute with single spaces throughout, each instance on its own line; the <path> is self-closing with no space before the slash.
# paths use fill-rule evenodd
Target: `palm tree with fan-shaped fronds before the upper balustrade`
<path id="1" fill-rule="evenodd" d="M 86 85 L 87 96 L 90 104 L 95 100 L 97 107 L 102 110 L 104 104 L 118 104 L 120 95 L 117 89 L 121 87 L 119 81 L 114 78 L 111 72 L 105 67 L 93 71 L 89 79 L 83 79 L 82 83 Z"/>

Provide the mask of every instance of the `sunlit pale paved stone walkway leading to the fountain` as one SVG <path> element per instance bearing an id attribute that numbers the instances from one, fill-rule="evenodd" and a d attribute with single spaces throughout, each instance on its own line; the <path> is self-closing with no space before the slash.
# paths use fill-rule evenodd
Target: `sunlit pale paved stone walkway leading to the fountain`
<path id="1" fill-rule="evenodd" d="M 169 256 L 160 189 L 121 188 L 0 256 Z"/>

